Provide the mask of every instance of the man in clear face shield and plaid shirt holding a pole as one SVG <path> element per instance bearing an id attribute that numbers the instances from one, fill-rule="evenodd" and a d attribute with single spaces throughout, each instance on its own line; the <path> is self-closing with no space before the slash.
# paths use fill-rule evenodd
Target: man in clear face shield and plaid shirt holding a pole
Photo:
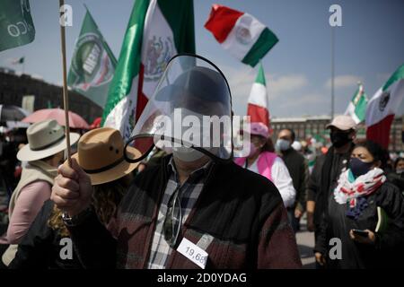
<path id="1" fill-rule="evenodd" d="M 172 155 L 136 177 L 119 206 L 115 239 L 92 211 L 87 199 L 92 190 L 83 171 L 75 162 L 73 169 L 59 169 L 52 199 L 70 219 L 68 228 L 84 266 L 301 266 L 277 188 L 233 163 L 231 120 L 230 126 L 220 124 L 217 134 L 215 120 L 200 123 L 204 116 L 232 118 L 224 75 L 202 57 L 174 57 L 131 138 L 147 152 L 154 139 Z M 206 125 L 212 128 L 204 133 Z M 141 161 L 147 152 L 126 160 Z"/>

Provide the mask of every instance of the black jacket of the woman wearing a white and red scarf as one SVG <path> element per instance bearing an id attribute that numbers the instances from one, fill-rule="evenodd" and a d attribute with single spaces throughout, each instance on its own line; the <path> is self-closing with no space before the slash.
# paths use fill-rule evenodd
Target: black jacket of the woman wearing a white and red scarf
<path id="1" fill-rule="evenodd" d="M 357 219 L 347 216 L 348 204 L 338 204 L 329 195 L 328 211 L 323 217 L 315 251 L 324 254 L 329 268 L 402 268 L 404 246 L 404 197 L 399 188 L 385 182 L 372 195 L 365 196 L 368 206 Z M 377 206 L 389 216 L 387 230 L 377 235 L 376 244 L 366 245 L 350 239 L 349 230 L 375 230 Z M 329 240 L 341 239 L 342 258 L 330 260 Z"/>

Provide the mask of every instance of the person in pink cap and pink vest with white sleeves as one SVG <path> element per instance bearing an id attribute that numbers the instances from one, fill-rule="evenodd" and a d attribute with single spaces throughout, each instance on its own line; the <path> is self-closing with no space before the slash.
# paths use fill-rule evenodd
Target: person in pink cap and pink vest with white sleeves
<path id="1" fill-rule="evenodd" d="M 235 163 L 271 180 L 279 190 L 285 207 L 294 204 L 296 191 L 292 178 L 285 162 L 275 153 L 267 126 L 262 123 L 251 123 L 250 153 L 245 158 L 237 158 Z"/>

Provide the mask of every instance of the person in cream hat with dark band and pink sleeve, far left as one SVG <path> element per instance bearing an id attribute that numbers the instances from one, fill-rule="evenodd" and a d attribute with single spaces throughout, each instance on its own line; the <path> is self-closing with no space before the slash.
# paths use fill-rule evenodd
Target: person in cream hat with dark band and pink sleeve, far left
<path id="1" fill-rule="evenodd" d="M 71 133 L 70 144 L 75 144 L 80 135 Z M 56 120 L 44 120 L 27 129 L 28 144 L 17 153 L 19 161 L 28 162 L 22 169 L 21 179 L 13 191 L 9 204 L 10 222 L 7 241 L 10 247 L 2 257 L 9 265 L 15 256 L 17 244 L 31 226 L 42 204 L 49 199 L 57 166 L 66 150 L 66 135 L 63 126 Z"/>

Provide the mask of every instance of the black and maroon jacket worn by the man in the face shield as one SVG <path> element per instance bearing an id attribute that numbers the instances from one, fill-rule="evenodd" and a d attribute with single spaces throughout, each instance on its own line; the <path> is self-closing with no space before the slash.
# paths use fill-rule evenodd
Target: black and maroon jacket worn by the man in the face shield
<path id="1" fill-rule="evenodd" d="M 117 230 L 110 233 L 93 214 L 69 230 L 78 256 L 88 268 L 146 268 L 159 207 L 170 171 L 168 161 L 137 175 L 122 199 Z M 277 187 L 233 162 L 215 164 L 208 171 L 198 201 L 181 226 L 183 238 L 194 244 L 204 235 L 206 268 L 294 268 L 301 266 L 294 233 Z M 198 267 L 175 248 L 167 268 Z"/>

